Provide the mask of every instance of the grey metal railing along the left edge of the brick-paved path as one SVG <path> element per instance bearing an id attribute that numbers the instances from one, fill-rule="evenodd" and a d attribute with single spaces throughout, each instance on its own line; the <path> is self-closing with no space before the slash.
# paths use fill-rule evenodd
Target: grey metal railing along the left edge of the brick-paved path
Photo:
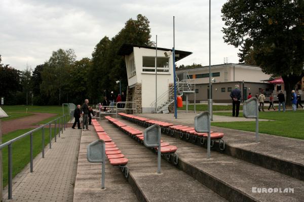
<path id="1" fill-rule="evenodd" d="M 50 121 L 49 123 L 46 123 L 38 128 L 35 128 L 31 131 L 28 131 L 14 139 L 11 139 L 3 144 L 0 145 L 0 149 L 2 150 L 3 148 L 5 148 L 6 146 L 8 146 L 8 167 L 9 167 L 9 174 L 8 174 L 8 198 L 12 199 L 12 193 L 13 193 L 13 156 L 12 156 L 12 152 L 13 152 L 13 148 L 12 145 L 14 142 L 16 142 L 17 140 L 29 136 L 30 135 L 30 172 L 33 172 L 33 133 L 39 130 L 42 130 L 42 158 L 45 158 L 45 127 L 49 126 L 49 130 L 50 130 L 50 149 L 52 148 L 52 128 L 51 125 L 52 123 L 54 123 L 54 134 L 55 134 L 55 142 L 57 141 L 57 123 L 58 123 L 58 137 L 60 137 L 60 131 L 61 133 L 63 133 L 63 130 L 65 130 L 66 127 L 66 122 L 67 122 L 67 116 L 63 115 L 61 117 L 58 117 L 57 119 L 54 119 L 52 121 Z M 60 124 L 61 123 L 61 124 Z M 2 166 L 2 165 L 1 165 Z M 3 182 L 2 182 L 3 183 Z"/>

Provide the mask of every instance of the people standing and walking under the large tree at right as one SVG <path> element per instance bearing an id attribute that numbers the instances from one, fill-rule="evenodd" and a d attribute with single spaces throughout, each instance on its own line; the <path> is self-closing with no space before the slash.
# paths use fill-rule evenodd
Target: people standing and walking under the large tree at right
<path id="1" fill-rule="evenodd" d="M 233 117 L 238 117 L 239 116 L 239 111 L 240 111 L 240 104 L 241 104 L 241 90 L 239 89 L 239 85 L 235 85 L 235 89 L 233 89 L 230 93 L 230 97 L 232 98 L 232 116 Z M 252 97 L 251 93 L 248 94 L 247 99 L 250 99 Z M 265 95 L 263 93 L 263 91 L 258 94 L 256 93 L 255 97 L 258 99 L 259 102 L 259 107 L 258 107 L 258 111 L 262 111 L 264 112 L 264 102 L 265 102 Z M 277 95 L 278 101 L 279 101 L 279 107 L 278 107 L 278 111 L 281 111 L 281 105 L 283 106 L 283 112 L 286 111 L 286 107 L 285 107 L 285 95 L 283 93 L 283 91 L 280 91 L 280 93 Z M 301 104 L 301 93 L 299 91 L 297 91 L 297 93 L 295 93 L 295 90 L 291 91 L 291 103 L 292 103 L 292 110 L 296 111 L 298 109 L 298 106 L 302 106 Z M 268 110 L 273 109 L 274 111 L 276 110 L 276 108 L 274 107 L 274 95 L 271 94 L 269 97 L 269 107 Z M 303 108 L 304 109 L 304 108 Z"/>

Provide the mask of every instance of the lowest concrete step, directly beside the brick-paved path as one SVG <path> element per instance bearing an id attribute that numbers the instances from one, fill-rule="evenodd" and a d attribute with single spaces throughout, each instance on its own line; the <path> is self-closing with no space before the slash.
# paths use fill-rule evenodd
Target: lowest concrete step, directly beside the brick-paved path
<path id="1" fill-rule="evenodd" d="M 87 145 L 97 139 L 94 130 L 82 132 L 73 201 L 138 201 L 121 170 L 109 162 L 105 164 L 105 189 L 101 189 L 101 164 L 87 160 Z"/>

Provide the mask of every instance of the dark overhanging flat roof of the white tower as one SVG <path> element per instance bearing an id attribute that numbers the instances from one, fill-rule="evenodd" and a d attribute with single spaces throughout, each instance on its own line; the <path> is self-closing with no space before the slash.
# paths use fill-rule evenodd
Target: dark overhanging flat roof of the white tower
<path id="1" fill-rule="evenodd" d="M 119 56 L 129 56 L 133 52 L 133 47 L 156 49 L 156 47 L 154 47 L 154 46 L 134 45 L 134 44 L 124 43 L 119 48 L 118 55 Z M 172 49 L 163 48 L 163 47 L 157 47 L 157 49 L 160 51 L 172 51 Z M 176 57 L 176 54 L 179 54 L 179 57 Z M 175 50 L 175 61 L 179 61 L 191 54 L 192 54 L 192 52 Z"/>

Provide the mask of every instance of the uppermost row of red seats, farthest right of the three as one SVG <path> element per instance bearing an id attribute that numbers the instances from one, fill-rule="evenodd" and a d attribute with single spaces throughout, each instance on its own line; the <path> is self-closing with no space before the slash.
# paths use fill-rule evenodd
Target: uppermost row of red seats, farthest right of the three
<path id="1" fill-rule="evenodd" d="M 163 133 L 171 134 L 171 136 L 173 136 L 174 133 L 178 133 L 179 137 L 181 139 L 183 138 L 184 135 L 185 135 L 186 140 L 192 139 L 194 142 L 196 142 L 197 139 L 199 138 L 199 142 L 202 145 L 205 144 L 206 139 L 208 137 L 208 133 L 196 132 L 194 127 L 183 126 L 183 125 L 174 125 L 174 124 L 168 123 L 168 122 L 151 120 L 151 119 L 147 119 L 144 117 L 139 117 L 139 116 L 125 114 L 125 113 L 119 113 L 119 115 L 122 116 L 124 119 L 127 119 L 129 121 L 132 121 L 134 123 L 137 123 L 137 124 L 145 126 L 145 127 L 149 127 L 151 125 L 158 124 L 161 126 Z M 219 141 L 220 150 L 224 150 L 225 142 L 222 139 L 223 136 L 224 136 L 224 133 L 210 131 L 211 146 L 214 145 L 214 141 Z"/>

